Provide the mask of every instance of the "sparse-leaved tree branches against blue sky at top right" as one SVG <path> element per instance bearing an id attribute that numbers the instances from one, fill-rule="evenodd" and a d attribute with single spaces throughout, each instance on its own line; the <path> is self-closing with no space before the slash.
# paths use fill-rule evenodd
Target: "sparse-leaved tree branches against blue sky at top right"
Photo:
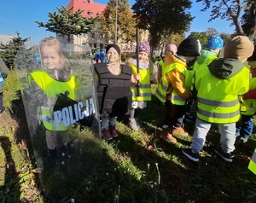
<path id="1" fill-rule="evenodd" d="M 230 26 L 236 26 L 236 33 L 245 35 L 241 27 L 241 13 L 242 9 L 246 7 L 247 0 L 196 0 L 196 2 L 201 2 L 205 6 L 201 11 L 212 8 L 209 22 L 218 18 L 230 20 Z"/>

